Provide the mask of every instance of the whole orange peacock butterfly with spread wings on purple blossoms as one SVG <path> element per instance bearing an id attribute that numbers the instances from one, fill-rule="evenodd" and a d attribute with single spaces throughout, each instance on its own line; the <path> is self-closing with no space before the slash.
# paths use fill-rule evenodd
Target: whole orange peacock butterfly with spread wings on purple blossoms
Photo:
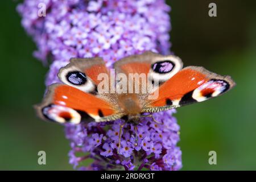
<path id="1" fill-rule="evenodd" d="M 142 113 L 202 102 L 235 85 L 229 76 L 217 75 L 203 67 L 182 67 L 182 61 L 173 55 L 145 52 L 125 57 L 114 64 L 115 74 L 122 78 L 113 86 L 109 80 L 113 75 L 101 58 L 71 59 L 58 73 L 64 84 L 50 85 L 36 110 L 41 118 L 59 123 L 77 124 L 90 117 L 96 122 L 123 118 L 138 124 Z M 130 74 L 141 77 L 129 80 Z M 123 89 L 126 84 L 132 88 Z M 133 88 L 136 85 L 139 89 Z M 116 92 L 122 89 L 129 92 Z"/>

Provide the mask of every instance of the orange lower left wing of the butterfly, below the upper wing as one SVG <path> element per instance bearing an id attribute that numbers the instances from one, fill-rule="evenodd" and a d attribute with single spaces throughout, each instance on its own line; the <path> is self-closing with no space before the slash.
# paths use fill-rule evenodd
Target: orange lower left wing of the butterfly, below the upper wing
<path id="1" fill-rule="evenodd" d="M 42 104 L 35 106 L 39 117 L 59 123 L 78 124 L 88 117 L 96 122 L 122 117 L 108 101 L 64 84 L 52 84 Z"/>

